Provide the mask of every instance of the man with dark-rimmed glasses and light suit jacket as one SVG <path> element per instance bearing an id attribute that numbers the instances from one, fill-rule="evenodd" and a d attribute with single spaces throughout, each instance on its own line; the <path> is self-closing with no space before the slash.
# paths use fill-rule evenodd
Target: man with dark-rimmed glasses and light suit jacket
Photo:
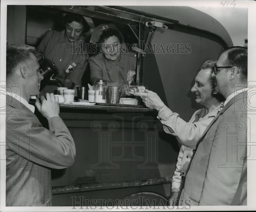
<path id="1" fill-rule="evenodd" d="M 226 100 L 198 143 L 180 199 L 191 205 L 247 205 L 247 49 L 221 52 L 212 77 Z"/>

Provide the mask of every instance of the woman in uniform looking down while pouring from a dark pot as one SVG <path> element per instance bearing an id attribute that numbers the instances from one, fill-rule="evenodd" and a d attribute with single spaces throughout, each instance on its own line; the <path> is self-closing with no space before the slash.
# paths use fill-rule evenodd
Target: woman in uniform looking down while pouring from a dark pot
<path id="1" fill-rule="evenodd" d="M 65 30 L 59 32 L 49 29 L 45 32 L 37 46 L 38 60 L 47 58 L 54 62 L 59 70 L 55 77 L 64 87 L 74 89 L 80 85 L 80 80 L 87 66 L 88 53 L 83 45 L 82 34 L 90 27 L 82 15 L 67 13 L 63 17 Z M 56 87 L 56 86 L 55 86 Z M 54 86 L 46 86 L 41 94 L 52 93 Z"/>

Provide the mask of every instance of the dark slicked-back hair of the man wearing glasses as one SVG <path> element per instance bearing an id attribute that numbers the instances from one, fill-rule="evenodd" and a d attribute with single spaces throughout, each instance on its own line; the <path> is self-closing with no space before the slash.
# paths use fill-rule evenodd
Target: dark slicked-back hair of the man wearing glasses
<path id="1" fill-rule="evenodd" d="M 247 81 L 247 69 L 248 69 L 248 51 L 246 47 L 243 46 L 232 46 L 220 52 L 227 54 L 227 59 L 225 61 L 225 66 L 236 66 L 241 74 L 241 79 Z"/>

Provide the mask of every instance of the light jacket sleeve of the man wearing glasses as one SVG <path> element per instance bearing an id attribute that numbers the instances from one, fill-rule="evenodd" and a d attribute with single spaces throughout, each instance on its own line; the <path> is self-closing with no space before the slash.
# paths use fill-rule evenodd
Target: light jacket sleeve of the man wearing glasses
<path id="1" fill-rule="evenodd" d="M 237 205 L 247 196 L 247 146 L 239 145 L 247 141 L 247 119 L 240 112 L 225 113 L 213 140 L 199 205 L 231 205 L 238 195 L 232 203 Z"/>

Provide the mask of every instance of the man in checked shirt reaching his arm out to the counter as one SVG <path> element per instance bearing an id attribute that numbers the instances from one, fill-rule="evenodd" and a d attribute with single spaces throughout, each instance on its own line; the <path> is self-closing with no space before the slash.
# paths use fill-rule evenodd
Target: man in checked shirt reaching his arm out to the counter
<path id="1" fill-rule="evenodd" d="M 214 79 L 211 78 L 215 63 L 216 60 L 209 59 L 201 64 L 201 70 L 195 78 L 191 92 L 195 93 L 196 102 L 204 105 L 204 108 L 196 111 L 189 122 L 182 120 L 178 113 L 172 112 L 156 93 L 148 90 L 145 91 L 147 95 L 145 92 L 135 93 L 143 98 L 142 101 L 147 107 L 158 110 L 157 118 L 164 125 L 165 132 L 176 136 L 178 142 L 182 144 L 172 179 L 172 193 L 169 199 L 173 201 L 169 202 L 170 205 L 176 205 L 195 154 L 196 145 L 206 127 L 217 115 L 220 102 L 223 100 L 223 96 L 215 92 Z"/>

